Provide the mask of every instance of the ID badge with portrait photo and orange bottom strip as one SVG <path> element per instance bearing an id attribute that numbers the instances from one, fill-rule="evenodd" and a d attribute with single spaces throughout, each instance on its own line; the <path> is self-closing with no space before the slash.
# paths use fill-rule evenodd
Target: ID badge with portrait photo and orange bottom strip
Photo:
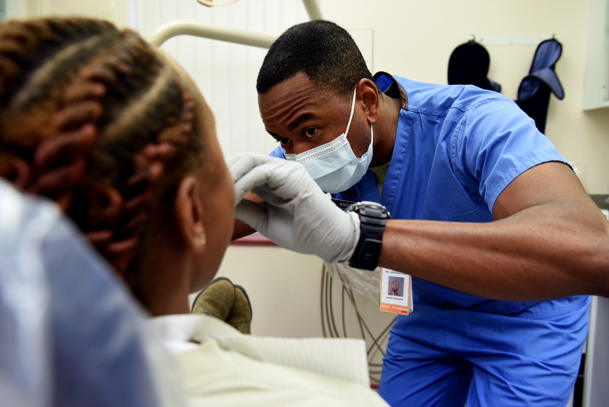
<path id="1" fill-rule="evenodd" d="M 379 306 L 385 313 L 408 315 L 412 312 L 412 277 L 381 267 Z"/>

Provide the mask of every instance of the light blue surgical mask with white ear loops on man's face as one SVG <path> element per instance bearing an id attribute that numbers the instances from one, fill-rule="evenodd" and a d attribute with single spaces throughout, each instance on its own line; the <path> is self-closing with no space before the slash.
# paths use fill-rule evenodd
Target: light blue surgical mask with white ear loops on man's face
<path id="1" fill-rule="evenodd" d="M 357 90 L 357 89 L 356 89 Z M 317 185 L 325 192 L 336 194 L 346 191 L 364 177 L 368 165 L 372 160 L 372 125 L 370 125 L 370 146 L 362 158 L 353 154 L 351 144 L 347 140 L 347 133 L 353 119 L 355 108 L 355 92 L 353 91 L 353 103 L 351 104 L 351 116 L 347 130 L 329 143 L 322 144 L 314 149 L 300 154 L 286 154 L 286 158 L 302 163 Z"/>

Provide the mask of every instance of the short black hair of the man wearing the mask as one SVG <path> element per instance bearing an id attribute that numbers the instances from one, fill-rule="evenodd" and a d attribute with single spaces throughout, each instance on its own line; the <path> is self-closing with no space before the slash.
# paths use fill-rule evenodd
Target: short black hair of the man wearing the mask
<path id="1" fill-rule="evenodd" d="M 275 40 L 262 62 L 256 90 L 266 93 L 300 72 L 339 96 L 353 93 L 363 78 L 372 80 L 351 35 L 336 23 L 325 20 L 296 24 Z"/>

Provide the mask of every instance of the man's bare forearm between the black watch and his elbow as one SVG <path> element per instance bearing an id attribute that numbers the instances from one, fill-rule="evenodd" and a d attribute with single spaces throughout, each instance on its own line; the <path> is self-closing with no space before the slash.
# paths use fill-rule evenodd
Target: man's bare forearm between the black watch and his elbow
<path id="1" fill-rule="evenodd" d="M 483 224 L 392 220 L 379 265 L 491 299 L 608 296 L 602 222 L 579 222 L 551 205 Z"/>

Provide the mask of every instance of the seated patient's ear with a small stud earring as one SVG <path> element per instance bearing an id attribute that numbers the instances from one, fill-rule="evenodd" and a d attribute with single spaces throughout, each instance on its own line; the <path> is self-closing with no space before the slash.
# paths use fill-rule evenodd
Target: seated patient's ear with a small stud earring
<path id="1" fill-rule="evenodd" d="M 205 250 L 203 204 L 199 197 L 199 182 L 192 175 L 183 178 L 178 185 L 174 216 L 186 247 L 195 252 Z"/>

